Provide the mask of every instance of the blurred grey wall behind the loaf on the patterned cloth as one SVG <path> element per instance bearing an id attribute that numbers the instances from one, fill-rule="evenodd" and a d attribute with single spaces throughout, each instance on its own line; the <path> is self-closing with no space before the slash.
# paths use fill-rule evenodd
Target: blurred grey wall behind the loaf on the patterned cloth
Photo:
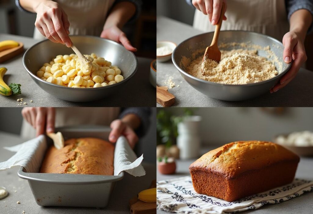
<path id="1" fill-rule="evenodd" d="M 313 108 L 188 108 L 200 115 L 202 146 L 240 140 L 272 141 L 273 137 L 294 131 L 313 131 Z M 183 115 L 184 108 L 157 108 Z"/>

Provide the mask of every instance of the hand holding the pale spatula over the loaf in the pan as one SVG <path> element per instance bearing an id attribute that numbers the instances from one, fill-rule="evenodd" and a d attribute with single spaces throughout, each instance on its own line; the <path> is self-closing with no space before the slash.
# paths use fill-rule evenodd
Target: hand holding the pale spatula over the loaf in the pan
<path id="1" fill-rule="evenodd" d="M 36 137 L 46 132 L 54 132 L 54 108 L 25 107 L 22 110 L 23 118 L 36 129 Z M 47 125 L 46 125 L 47 124 Z"/>

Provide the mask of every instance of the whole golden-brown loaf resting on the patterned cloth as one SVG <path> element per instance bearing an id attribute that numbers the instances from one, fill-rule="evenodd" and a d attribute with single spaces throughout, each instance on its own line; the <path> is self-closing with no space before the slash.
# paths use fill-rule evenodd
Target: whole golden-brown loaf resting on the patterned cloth
<path id="1" fill-rule="evenodd" d="M 239 141 L 214 149 L 189 171 L 196 192 L 232 202 L 293 181 L 300 158 L 264 141 Z"/>

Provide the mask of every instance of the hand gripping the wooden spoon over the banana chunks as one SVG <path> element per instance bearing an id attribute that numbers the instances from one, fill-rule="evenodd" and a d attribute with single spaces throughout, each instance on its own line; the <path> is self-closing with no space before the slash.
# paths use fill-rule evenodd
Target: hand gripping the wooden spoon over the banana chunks
<path id="1" fill-rule="evenodd" d="M 69 20 L 64 10 L 54 1 L 39 3 L 34 11 L 37 13 L 35 26 L 39 32 L 52 42 L 59 42 L 71 47 L 69 38 Z"/>

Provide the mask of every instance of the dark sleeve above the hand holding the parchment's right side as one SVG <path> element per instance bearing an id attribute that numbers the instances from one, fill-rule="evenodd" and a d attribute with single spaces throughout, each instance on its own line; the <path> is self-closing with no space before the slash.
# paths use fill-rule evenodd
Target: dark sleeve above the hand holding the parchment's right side
<path id="1" fill-rule="evenodd" d="M 127 114 L 136 114 L 141 121 L 140 127 L 138 127 L 135 132 L 138 137 L 142 137 L 147 132 L 150 126 L 150 115 L 151 108 L 149 107 L 132 107 L 132 108 L 122 108 L 119 118 L 123 118 Z"/>

